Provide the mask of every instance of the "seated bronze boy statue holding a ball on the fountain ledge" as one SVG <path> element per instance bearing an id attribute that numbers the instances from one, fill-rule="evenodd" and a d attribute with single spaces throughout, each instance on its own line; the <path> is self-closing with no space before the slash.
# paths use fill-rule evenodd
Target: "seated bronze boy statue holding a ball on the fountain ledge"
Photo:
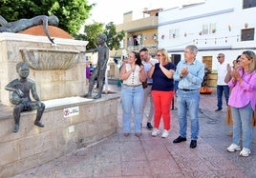
<path id="1" fill-rule="evenodd" d="M 17 132 L 19 130 L 20 112 L 30 111 L 32 109 L 37 109 L 34 125 L 43 128 L 44 125 L 40 120 L 43 115 L 45 105 L 41 103 L 37 95 L 34 82 L 31 79 L 28 79 L 30 74 L 29 64 L 19 62 L 16 65 L 16 71 L 19 74 L 19 78 L 12 80 L 5 87 L 5 89 L 12 91 L 10 95 L 10 102 L 15 105 L 13 109 L 15 125 L 12 131 Z M 32 92 L 32 97 L 35 102 L 31 100 L 30 92 Z"/>

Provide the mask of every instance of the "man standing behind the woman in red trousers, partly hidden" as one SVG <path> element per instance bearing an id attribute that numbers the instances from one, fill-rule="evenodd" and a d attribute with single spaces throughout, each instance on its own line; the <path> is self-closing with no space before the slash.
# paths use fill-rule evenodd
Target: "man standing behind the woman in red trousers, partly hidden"
<path id="1" fill-rule="evenodd" d="M 151 63 L 150 61 L 153 61 L 154 63 L 158 63 L 159 61 L 157 59 L 153 59 L 150 55 L 149 55 L 149 51 L 146 48 L 140 49 L 139 50 L 139 55 L 140 58 L 142 60 L 142 64 L 144 66 L 144 70 L 147 76 L 147 72 L 148 70 L 151 68 Z M 154 106 L 153 106 L 153 99 L 152 99 L 152 95 L 151 95 L 151 88 L 152 88 L 152 84 L 153 84 L 153 79 L 149 78 L 147 76 L 147 88 L 143 89 L 144 91 L 144 101 L 143 101 L 143 108 L 142 108 L 142 113 L 144 113 L 144 109 L 145 106 L 147 104 L 147 101 L 149 99 L 149 104 L 150 104 L 150 108 L 149 108 L 149 113 L 145 114 L 147 117 L 147 129 L 151 130 L 153 129 L 151 122 L 153 119 L 153 115 L 154 115 Z"/>

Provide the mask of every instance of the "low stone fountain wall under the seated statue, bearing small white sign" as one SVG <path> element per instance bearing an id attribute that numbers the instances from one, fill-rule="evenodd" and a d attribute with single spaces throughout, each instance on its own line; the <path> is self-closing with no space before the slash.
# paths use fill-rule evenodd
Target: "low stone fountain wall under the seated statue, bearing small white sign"
<path id="1" fill-rule="evenodd" d="M 33 125 L 36 111 L 22 112 L 20 129 L 13 133 L 12 108 L 0 106 L 0 177 L 10 177 L 42 165 L 117 131 L 117 94 L 91 100 L 80 97 L 44 102 L 45 128 Z M 67 109 L 75 115 L 66 117 Z"/>

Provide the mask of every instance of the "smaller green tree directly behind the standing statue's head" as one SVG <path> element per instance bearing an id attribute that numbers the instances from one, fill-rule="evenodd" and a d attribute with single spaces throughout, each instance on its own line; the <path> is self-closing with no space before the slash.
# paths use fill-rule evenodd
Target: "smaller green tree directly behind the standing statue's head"
<path id="1" fill-rule="evenodd" d="M 87 49 L 96 48 L 96 37 L 98 33 L 105 33 L 108 37 L 107 46 L 109 49 L 119 49 L 120 41 L 124 38 L 124 31 L 117 33 L 116 26 L 113 22 L 110 22 L 103 28 L 103 24 L 94 23 L 92 25 L 84 26 L 84 34 L 78 34 L 75 36 L 76 40 L 88 41 Z"/>

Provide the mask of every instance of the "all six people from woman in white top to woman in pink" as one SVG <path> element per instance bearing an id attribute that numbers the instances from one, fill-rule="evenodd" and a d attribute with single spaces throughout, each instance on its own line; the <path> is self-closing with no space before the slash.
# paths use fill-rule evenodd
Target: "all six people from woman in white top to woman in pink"
<path id="1" fill-rule="evenodd" d="M 127 62 L 120 69 L 120 79 L 123 80 L 121 89 L 122 121 L 124 136 L 131 134 L 132 109 L 134 111 L 135 135 L 141 136 L 141 123 L 147 100 L 150 109 L 147 116 L 146 128 L 152 130 L 152 136 L 160 134 L 160 119 L 163 120 L 161 137 L 166 138 L 171 128 L 171 104 L 174 97 L 174 83 L 178 82 L 178 118 L 179 136 L 173 140 L 174 144 L 186 141 L 187 115 L 190 118 L 191 141 L 190 148 L 197 147 L 199 135 L 199 104 L 200 89 L 204 77 L 204 65 L 196 59 L 198 48 L 189 45 L 184 49 L 184 60 L 177 66 L 170 62 L 165 49 L 158 49 L 157 59 L 152 59 L 148 49 L 139 52 L 129 52 Z M 236 60 L 233 68 L 224 63 L 224 54 L 218 55 L 216 111 L 223 109 L 222 93 L 225 93 L 226 105 L 230 106 L 233 118 L 233 143 L 227 148 L 232 152 L 241 150 L 241 136 L 243 138 L 242 156 L 250 154 L 252 140 L 252 115 L 256 106 L 256 56 L 251 50 L 246 50 Z M 223 66 L 222 66 L 223 64 Z M 146 85 L 144 85 L 146 83 Z M 229 89 L 232 89 L 230 92 Z M 154 116 L 153 116 L 154 115 Z M 154 117 L 154 124 L 151 122 Z M 243 133 L 243 134 L 242 134 Z"/>

